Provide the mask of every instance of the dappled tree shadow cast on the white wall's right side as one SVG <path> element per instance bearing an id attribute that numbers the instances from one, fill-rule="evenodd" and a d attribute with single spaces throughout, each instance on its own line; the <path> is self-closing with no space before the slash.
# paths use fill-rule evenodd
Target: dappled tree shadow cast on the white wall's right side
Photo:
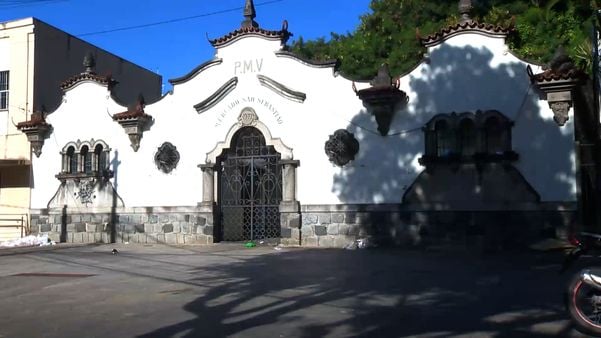
<path id="1" fill-rule="evenodd" d="M 498 227 L 512 223 L 540 235 L 545 229 L 566 228 L 574 222 L 575 207 L 560 212 L 565 205 L 559 205 L 575 204 L 576 199 L 573 124 L 559 128 L 552 113 L 539 108 L 541 101 L 530 86 L 524 63 L 495 56 L 484 47 L 443 44 L 431 51 L 427 63 L 400 81 L 410 101 L 396 112 L 388 136 L 373 132 L 374 118 L 365 111 L 347 126 L 359 140 L 360 151 L 333 179 L 332 190 L 341 202 L 398 204 L 401 214 L 420 211 L 419 217 L 400 217 L 420 226 L 505 222 Z M 483 168 L 473 163 L 456 168 L 438 164 L 440 170 L 426 173 L 418 164 L 425 150 L 424 125 L 438 114 L 478 110 L 496 110 L 513 121 L 512 150 L 518 160 Z M 421 197 L 404 198 L 407 195 Z M 483 210 L 494 212 L 488 217 Z M 447 220 L 440 220 L 438 211 L 446 211 Z M 453 211 L 467 215 L 458 219 Z M 500 212 L 512 215 L 498 220 Z M 382 227 L 375 224 L 382 217 L 367 218 L 367 227 Z M 395 222 L 385 220 L 384 228 Z"/>

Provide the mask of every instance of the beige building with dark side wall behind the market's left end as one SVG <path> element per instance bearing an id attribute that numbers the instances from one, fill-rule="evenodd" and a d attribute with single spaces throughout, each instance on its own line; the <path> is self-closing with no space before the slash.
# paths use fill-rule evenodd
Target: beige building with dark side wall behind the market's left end
<path id="1" fill-rule="evenodd" d="M 80 74 L 90 54 L 99 75 L 119 85 L 114 99 L 127 105 L 141 93 L 161 96 L 161 77 L 35 18 L 0 23 L 0 241 L 26 233 L 32 176 L 30 143 L 16 124 L 34 112 L 52 112 L 62 102 L 60 85 Z M 84 112 L 82 112 L 84 113 Z M 76 126 L 73 126 L 76 127 Z M 52 139 L 47 140 L 52 142 Z M 23 219 L 25 229 L 18 228 Z"/>

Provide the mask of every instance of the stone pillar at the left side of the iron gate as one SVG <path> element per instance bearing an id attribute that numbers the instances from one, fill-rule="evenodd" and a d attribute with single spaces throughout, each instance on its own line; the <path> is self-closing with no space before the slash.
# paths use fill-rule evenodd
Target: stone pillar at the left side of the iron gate
<path id="1" fill-rule="evenodd" d="M 209 243 L 213 243 L 216 237 L 216 219 L 218 219 L 218 209 L 215 203 L 215 170 L 217 166 L 214 163 L 200 164 L 202 170 L 202 202 L 199 203 L 199 211 L 206 223 L 203 226 L 202 233 L 209 237 Z"/>

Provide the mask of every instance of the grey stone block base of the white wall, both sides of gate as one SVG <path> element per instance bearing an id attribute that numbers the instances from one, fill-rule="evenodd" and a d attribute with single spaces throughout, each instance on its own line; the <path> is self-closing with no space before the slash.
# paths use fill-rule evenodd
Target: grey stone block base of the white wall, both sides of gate
<path id="1" fill-rule="evenodd" d="M 83 212 L 32 211 L 31 232 L 56 242 L 206 245 L 218 231 L 215 213 L 198 207 L 121 208 Z M 281 213 L 286 246 L 349 248 L 368 245 L 465 244 L 483 249 L 525 247 L 565 237 L 576 224 L 575 208 L 450 211 L 403 205 L 303 205 Z"/>

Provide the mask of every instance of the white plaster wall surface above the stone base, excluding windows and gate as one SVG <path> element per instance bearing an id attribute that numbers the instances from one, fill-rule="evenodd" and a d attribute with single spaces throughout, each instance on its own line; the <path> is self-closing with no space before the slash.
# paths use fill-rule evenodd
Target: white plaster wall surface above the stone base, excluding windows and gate
<path id="1" fill-rule="evenodd" d="M 502 39 L 465 34 L 431 48 L 429 63 L 401 79 L 410 101 L 397 112 L 387 137 L 377 132 L 352 82 L 336 76 L 331 68 L 278 57 L 274 54 L 278 49 L 279 42 L 258 37 L 219 49 L 221 64 L 175 85 L 173 93 L 146 107 L 155 124 L 144 133 L 138 152 L 131 150 L 121 126 L 107 115 L 125 108 L 107 98 L 106 88 L 82 83 L 72 89 L 49 117 L 55 127 L 52 141 L 34 160 L 33 207 L 45 207 L 58 187 L 54 178 L 60 170 L 58 151 L 69 141 L 90 138 L 107 142 L 112 156 L 118 153 L 117 190 L 126 206 L 196 205 L 202 197 L 197 165 L 205 163 L 206 154 L 225 139 L 247 106 L 300 160 L 297 198 L 301 203 L 399 203 L 423 170 L 417 165 L 424 151 L 420 128 L 436 114 L 477 109 L 496 109 L 515 120 L 513 149 L 520 155 L 516 167 L 542 200 L 575 199 L 570 161 L 573 126 L 560 129 L 554 124 L 546 102 L 528 88 L 526 63 L 507 53 Z M 262 87 L 259 73 L 306 93 L 307 99 L 294 102 Z M 198 114 L 193 106 L 234 76 L 239 80 L 236 89 Z M 344 168 L 329 163 L 324 152 L 325 142 L 337 129 L 353 132 L 361 147 L 356 160 Z M 163 142 L 171 142 L 180 152 L 179 165 L 170 174 L 160 172 L 153 162 Z"/>

